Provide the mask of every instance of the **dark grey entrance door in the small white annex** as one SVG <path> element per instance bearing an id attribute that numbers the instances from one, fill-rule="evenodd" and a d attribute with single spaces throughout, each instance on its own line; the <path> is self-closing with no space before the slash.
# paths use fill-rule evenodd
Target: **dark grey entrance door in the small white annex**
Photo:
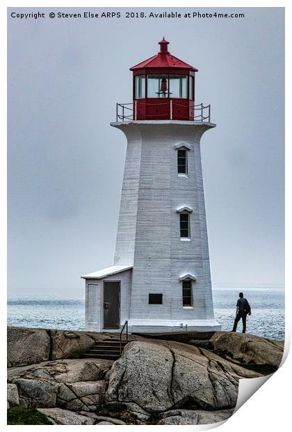
<path id="1" fill-rule="evenodd" d="M 120 327 L 120 282 L 104 282 L 104 328 Z"/>

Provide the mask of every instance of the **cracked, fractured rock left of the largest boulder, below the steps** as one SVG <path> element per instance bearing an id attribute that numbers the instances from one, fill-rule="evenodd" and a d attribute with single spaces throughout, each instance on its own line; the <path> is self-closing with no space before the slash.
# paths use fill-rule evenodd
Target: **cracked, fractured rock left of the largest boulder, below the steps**
<path id="1" fill-rule="evenodd" d="M 111 360 L 99 359 L 55 360 L 9 369 L 11 403 L 84 412 L 96 410 L 104 400 L 108 385 L 104 375 L 112 364 Z"/>

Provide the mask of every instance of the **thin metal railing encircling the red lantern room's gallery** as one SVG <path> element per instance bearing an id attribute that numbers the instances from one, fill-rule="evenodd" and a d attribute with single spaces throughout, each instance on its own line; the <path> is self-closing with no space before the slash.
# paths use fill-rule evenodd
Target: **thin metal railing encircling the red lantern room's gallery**
<path id="1" fill-rule="evenodd" d="M 145 105 L 168 105 L 169 107 L 169 116 L 170 116 L 170 120 L 173 120 L 173 116 L 172 116 L 172 105 L 175 105 L 175 107 L 184 107 L 187 108 L 188 106 L 186 105 L 181 105 L 178 104 L 177 102 L 175 102 L 175 104 L 173 104 L 173 101 L 170 99 L 168 101 L 165 102 L 161 102 L 161 103 L 153 103 L 153 102 L 145 102 Z M 193 109 L 194 109 L 194 121 L 207 121 L 210 122 L 211 121 L 211 105 L 204 105 L 204 104 L 197 104 L 197 105 L 193 105 Z M 166 113 L 163 114 L 151 114 L 151 117 L 156 117 L 157 120 L 159 120 L 159 117 L 165 117 Z M 139 117 L 141 115 L 139 114 Z M 181 118 L 178 118 L 178 115 L 175 115 L 175 119 L 176 120 L 186 120 L 186 117 L 181 116 Z M 116 107 L 116 121 L 120 122 L 120 121 L 133 121 L 133 120 L 137 120 L 137 101 L 135 102 L 130 102 L 127 104 L 122 104 L 122 103 L 118 103 L 117 102 L 117 107 Z M 146 120 L 146 118 L 145 118 Z"/>

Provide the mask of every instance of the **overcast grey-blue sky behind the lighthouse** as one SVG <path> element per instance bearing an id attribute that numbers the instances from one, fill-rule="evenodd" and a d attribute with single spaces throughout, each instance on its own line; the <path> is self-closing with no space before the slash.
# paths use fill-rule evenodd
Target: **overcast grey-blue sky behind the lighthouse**
<path id="1" fill-rule="evenodd" d="M 213 286 L 283 285 L 284 8 L 216 10 L 244 19 L 48 15 L 84 10 L 8 9 L 8 295 L 82 297 L 80 275 L 112 265 L 126 139 L 109 123 L 115 102 L 131 102 L 129 68 L 162 36 L 199 69 L 196 103 L 211 103 L 217 124 L 202 139 Z"/>

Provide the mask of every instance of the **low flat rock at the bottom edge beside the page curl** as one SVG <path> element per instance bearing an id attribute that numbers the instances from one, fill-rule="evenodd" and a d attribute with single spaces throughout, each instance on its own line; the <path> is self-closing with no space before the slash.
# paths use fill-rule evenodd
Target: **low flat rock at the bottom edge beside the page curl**
<path id="1" fill-rule="evenodd" d="M 157 424 L 212 424 L 229 419 L 233 412 L 234 410 L 171 410 L 165 412 Z"/>

